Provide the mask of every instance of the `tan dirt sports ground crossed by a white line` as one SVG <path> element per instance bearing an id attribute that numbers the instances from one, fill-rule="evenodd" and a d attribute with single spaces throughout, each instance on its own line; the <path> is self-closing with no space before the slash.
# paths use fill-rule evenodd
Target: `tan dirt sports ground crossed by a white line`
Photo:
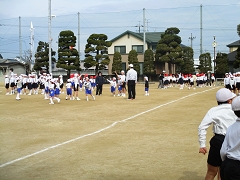
<path id="1" fill-rule="evenodd" d="M 0 84 L 1 180 L 202 180 L 198 125 L 220 87 L 137 85 L 136 99 L 103 95 L 49 105 L 43 95 L 5 95 Z M 95 92 L 94 92 L 95 93 Z M 207 137 L 211 138 L 209 128 Z M 207 143 L 209 147 L 209 143 Z"/>

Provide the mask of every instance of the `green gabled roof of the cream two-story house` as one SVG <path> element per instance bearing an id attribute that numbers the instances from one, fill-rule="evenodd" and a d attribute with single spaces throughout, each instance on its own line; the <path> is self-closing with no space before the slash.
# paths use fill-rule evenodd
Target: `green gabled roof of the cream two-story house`
<path id="1" fill-rule="evenodd" d="M 140 40 L 143 40 L 143 33 L 135 33 L 132 31 L 125 31 L 124 33 L 118 35 L 117 37 L 113 38 L 111 41 L 114 42 L 117 39 L 125 36 L 125 35 L 132 35 Z M 163 32 L 146 32 L 145 33 L 145 38 L 146 38 L 146 42 L 147 43 L 158 43 L 158 41 L 161 38 L 161 34 L 163 34 Z"/>

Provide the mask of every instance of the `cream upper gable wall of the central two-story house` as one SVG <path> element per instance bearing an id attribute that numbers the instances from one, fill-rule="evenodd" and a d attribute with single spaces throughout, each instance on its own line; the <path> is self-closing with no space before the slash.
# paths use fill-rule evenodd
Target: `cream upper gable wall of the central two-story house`
<path id="1" fill-rule="evenodd" d="M 108 48 L 108 54 L 114 54 L 114 46 L 126 46 L 126 54 L 128 54 L 132 50 L 132 45 L 143 45 L 143 41 L 126 34 L 112 43 L 112 46 Z M 145 47 L 147 47 L 146 43 Z"/>

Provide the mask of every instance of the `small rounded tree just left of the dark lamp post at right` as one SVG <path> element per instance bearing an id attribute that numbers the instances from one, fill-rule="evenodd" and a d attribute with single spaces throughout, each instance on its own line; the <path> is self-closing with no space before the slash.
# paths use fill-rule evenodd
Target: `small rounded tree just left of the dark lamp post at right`
<path id="1" fill-rule="evenodd" d="M 212 60 L 210 53 L 204 53 L 199 56 L 199 70 L 202 73 L 206 73 L 207 71 L 212 71 Z"/>

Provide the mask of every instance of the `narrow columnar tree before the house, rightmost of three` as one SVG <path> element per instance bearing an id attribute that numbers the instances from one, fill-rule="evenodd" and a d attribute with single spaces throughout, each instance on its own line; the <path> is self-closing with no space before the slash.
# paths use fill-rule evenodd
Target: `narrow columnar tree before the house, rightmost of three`
<path id="1" fill-rule="evenodd" d="M 147 49 L 144 53 L 143 74 L 147 76 L 156 74 L 154 67 L 154 53 L 151 49 Z"/>

